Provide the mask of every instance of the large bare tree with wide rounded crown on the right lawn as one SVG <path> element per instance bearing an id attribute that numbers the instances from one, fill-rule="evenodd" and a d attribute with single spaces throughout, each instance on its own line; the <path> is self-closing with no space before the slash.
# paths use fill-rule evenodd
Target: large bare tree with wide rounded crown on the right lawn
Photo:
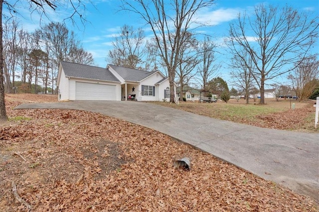
<path id="1" fill-rule="evenodd" d="M 245 58 L 246 51 L 253 63 L 253 77 L 260 90 L 260 104 L 265 104 L 265 81 L 272 80 L 295 68 L 318 37 L 318 17 L 299 13 L 291 7 L 255 6 L 253 15 L 238 14 L 230 24 L 228 45 L 234 55 Z M 247 66 L 248 61 L 247 61 Z"/>

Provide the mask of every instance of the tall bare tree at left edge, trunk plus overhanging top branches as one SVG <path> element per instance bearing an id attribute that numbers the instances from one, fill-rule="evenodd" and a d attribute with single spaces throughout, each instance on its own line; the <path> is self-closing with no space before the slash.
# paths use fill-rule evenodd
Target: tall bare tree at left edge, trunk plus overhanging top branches
<path id="1" fill-rule="evenodd" d="M 55 10 L 56 8 L 63 7 L 65 3 L 70 2 L 73 12 L 66 18 L 70 18 L 73 21 L 73 17 L 78 15 L 80 17 L 80 20 L 84 23 L 85 17 L 81 14 L 81 9 L 85 9 L 85 4 L 81 0 L 16 0 L 16 1 L 9 1 L 9 0 L 0 0 L 0 121 L 6 121 L 7 115 L 5 110 L 5 103 L 4 103 L 4 75 L 3 75 L 3 42 L 2 42 L 2 8 L 3 5 L 9 13 L 14 17 L 16 14 L 19 14 L 19 6 L 17 6 L 18 3 L 27 3 L 29 4 L 30 13 L 37 12 L 41 15 L 41 17 L 44 15 L 48 17 L 47 10 Z"/>

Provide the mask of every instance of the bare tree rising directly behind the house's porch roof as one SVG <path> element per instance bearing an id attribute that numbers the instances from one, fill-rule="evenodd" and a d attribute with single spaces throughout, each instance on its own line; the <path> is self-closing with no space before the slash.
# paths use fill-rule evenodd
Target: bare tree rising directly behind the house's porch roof
<path id="1" fill-rule="evenodd" d="M 118 66 L 136 69 L 142 66 L 145 55 L 145 35 L 142 28 L 121 27 L 119 36 L 113 38 L 113 50 L 109 51 L 108 60 Z"/>

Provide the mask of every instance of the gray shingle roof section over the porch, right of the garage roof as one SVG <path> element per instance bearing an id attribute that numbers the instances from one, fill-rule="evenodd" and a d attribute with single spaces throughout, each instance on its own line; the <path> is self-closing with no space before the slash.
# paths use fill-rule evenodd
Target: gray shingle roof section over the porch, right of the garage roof
<path id="1" fill-rule="evenodd" d="M 137 69 L 131 69 L 121 66 L 109 65 L 114 71 L 116 71 L 125 81 L 139 82 L 146 77 L 154 74 L 156 71 L 148 72 Z"/>

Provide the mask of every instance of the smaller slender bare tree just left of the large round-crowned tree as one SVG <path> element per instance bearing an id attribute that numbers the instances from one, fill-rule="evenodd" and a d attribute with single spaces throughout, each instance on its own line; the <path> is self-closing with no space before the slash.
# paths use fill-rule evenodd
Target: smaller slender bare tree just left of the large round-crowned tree
<path id="1" fill-rule="evenodd" d="M 249 96 L 251 89 L 255 86 L 253 82 L 252 69 L 254 67 L 250 55 L 243 51 L 238 55 L 233 55 L 229 67 L 232 69 L 230 76 L 232 77 L 232 84 L 244 92 L 246 104 L 249 104 Z"/>

